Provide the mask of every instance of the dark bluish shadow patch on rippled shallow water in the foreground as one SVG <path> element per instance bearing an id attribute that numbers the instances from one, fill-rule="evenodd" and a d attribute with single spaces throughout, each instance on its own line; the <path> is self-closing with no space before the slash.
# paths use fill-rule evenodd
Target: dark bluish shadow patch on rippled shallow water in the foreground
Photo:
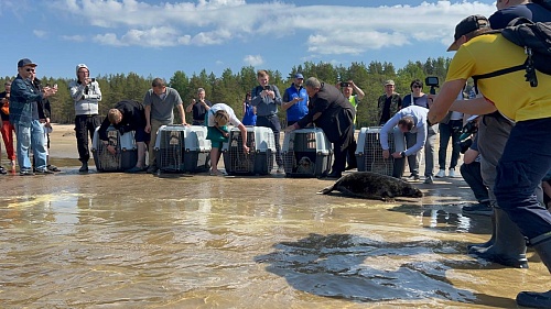
<path id="1" fill-rule="evenodd" d="M 452 268 L 434 256 L 447 250 L 437 243 L 428 246 L 426 242 L 388 243 L 352 234 L 311 234 L 274 249 L 256 261 L 269 264 L 269 272 L 284 277 L 294 288 L 318 296 L 359 301 L 476 299 L 472 291 L 447 280 L 446 272 Z"/>

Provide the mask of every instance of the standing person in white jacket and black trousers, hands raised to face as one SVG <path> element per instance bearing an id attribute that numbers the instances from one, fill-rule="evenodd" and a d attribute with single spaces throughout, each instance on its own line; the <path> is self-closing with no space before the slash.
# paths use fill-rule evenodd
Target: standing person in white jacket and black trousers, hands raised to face
<path id="1" fill-rule="evenodd" d="M 71 81 L 69 92 L 75 100 L 75 133 L 76 146 L 78 148 L 78 159 L 83 164 L 78 172 L 88 172 L 88 134 L 90 139 L 94 131 L 101 124 L 99 117 L 99 101 L 101 101 L 101 90 L 95 78 L 90 78 L 90 71 L 85 64 L 76 66 L 76 80 Z"/>

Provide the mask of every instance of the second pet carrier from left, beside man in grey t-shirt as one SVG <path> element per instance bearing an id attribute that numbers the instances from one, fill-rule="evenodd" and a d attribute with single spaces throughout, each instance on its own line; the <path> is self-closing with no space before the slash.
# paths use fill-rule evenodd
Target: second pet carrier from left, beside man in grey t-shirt
<path id="1" fill-rule="evenodd" d="M 162 125 L 156 133 L 156 165 L 162 173 L 206 172 L 210 165 L 210 141 L 202 125 Z"/>

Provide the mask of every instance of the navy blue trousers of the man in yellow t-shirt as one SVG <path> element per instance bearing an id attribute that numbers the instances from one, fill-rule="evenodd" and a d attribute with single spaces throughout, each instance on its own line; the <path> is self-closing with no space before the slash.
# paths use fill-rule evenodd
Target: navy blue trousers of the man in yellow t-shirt
<path id="1" fill-rule="evenodd" d="M 517 122 L 497 165 L 494 188 L 498 205 L 532 244 L 551 238 L 542 236 L 551 232 L 551 213 L 540 206 L 534 194 L 551 169 L 549 128 L 551 118 Z"/>

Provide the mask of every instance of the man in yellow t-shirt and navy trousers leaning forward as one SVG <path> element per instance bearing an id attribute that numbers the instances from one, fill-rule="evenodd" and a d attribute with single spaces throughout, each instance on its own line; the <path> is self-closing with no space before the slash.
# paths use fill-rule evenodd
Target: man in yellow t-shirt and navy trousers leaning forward
<path id="1" fill-rule="evenodd" d="M 536 187 L 551 169 L 551 76 L 537 71 L 538 87 L 525 80 L 525 70 L 480 79 L 478 89 L 483 98 L 454 102 L 467 78 L 526 60 L 523 47 L 501 34 L 455 38 L 461 47 L 450 64 L 446 81 L 434 97 L 429 121 L 436 123 L 450 109 L 469 114 L 497 110 L 516 121 L 497 166 L 494 192 L 498 205 L 551 272 L 551 213 L 539 205 L 534 195 Z M 551 290 L 538 295 L 551 301 Z"/>

